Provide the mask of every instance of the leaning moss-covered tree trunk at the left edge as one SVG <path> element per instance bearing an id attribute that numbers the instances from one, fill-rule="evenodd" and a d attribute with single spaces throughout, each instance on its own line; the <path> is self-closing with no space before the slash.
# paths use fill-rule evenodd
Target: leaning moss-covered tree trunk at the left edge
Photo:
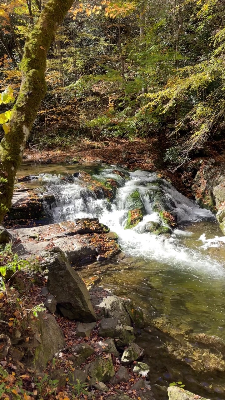
<path id="1" fill-rule="evenodd" d="M 11 205 L 16 171 L 20 166 L 38 107 L 46 94 L 46 54 L 57 27 L 73 2 L 74 0 L 49 0 L 26 39 L 21 62 L 20 93 L 12 110 L 10 131 L 0 143 L 0 176 L 7 179 L 0 188 L 0 222 Z"/>

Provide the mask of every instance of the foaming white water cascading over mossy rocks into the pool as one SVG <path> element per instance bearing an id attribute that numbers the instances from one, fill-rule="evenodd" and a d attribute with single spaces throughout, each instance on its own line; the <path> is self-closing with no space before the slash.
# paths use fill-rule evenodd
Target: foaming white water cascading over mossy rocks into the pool
<path id="1" fill-rule="evenodd" d="M 155 174 L 137 170 L 130 173 L 131 180 L 127 180 L 122 186 L 124 183 L 123 178 L 112 174 L 112 170 L 112 168 L 108 168 L 101 172 L 104 178 L 116 179 L 121 184 L 121 188 L 117 190 L 111 210 L 109 210 L 109 204 L 106 200 L 98 200 L 90 193 L 87 196 L 87 189 L 82 186 L 82 182 L 78 178 L 74 178 L 74 183 L 60 184 L 56 176 L 42 176 L 46 183 L 45 186 L 48 187 L 50 184 L 49 191 L 60 199 L 58 207 L 54 209 L 54 222 L 97 217 L 100 222 L 106 224 L 119 235 L 119 243 L 127 255 L 133 257 L 141 256 L 146 260 L 157 260 L 170 266 L 185 268 L 185 270 L 193 273 L 195 271 L 204 271 L 204 273 L 214 277 L 225 274 L 222 263 L 198 249 L 188 248 L 181 243 L 179 238 L 181 236 L 191 236 L 192 232 L 184 232 L 177 229 L 171 238 L 144 233 L 146 222 L 159 220 L 157 213 L 152 212 L 151 202 L 146 195 L 149 187 L 144 186 L 147 182 L 152 182 L 156 179 Z M 124 226 L 127 218 L 125 202 L 127 196 L 136 189 L 139 189 L 141 193 L 147 215 L 135 228 L 125 230 Z M 177 214 L 178 223 L 215 219 L 209 210 L 199 208 L 193 201 L 177 192 L 169 182 L 163 181 L 163 189 L 165 190 L 165 197 L 175 203 L 176 208 L 174 211 Z M 207 241 L 203 235 L 200 239 L 204 242 L 204 249 L 207 246 L 212 246 L 213 243 L 214 245 L 219 245 L 219 238 L 215 238 L 214 242 L 212 239 Z M 220 240 L 224 241 L 224 238 Z"/>

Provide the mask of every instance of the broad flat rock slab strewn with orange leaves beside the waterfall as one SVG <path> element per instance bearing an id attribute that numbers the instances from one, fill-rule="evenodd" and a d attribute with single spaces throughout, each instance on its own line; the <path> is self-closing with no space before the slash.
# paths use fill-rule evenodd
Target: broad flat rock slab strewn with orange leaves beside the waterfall
<path id="1" fill-rule="evenodd" d="M 71 264 L 103 261 L 119 253 L 117 241 L 109 238 L 108 232 L 109 228 L 97 218 L 10 230 L 17 239 L 16 251 L 23 257 L 59 247 Z"/>

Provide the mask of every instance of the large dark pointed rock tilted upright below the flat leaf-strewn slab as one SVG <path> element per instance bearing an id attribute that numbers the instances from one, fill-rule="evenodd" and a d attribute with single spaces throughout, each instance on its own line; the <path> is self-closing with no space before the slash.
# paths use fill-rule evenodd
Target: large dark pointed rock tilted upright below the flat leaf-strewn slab
<path id="1" fill-rule="evenodd" d="M 54 254 L 48 266 L 48 290 L 63 316 L 82 322 L 96 321 L 90 295 L 80 276 L 65 261 L 62 251 Z"/>

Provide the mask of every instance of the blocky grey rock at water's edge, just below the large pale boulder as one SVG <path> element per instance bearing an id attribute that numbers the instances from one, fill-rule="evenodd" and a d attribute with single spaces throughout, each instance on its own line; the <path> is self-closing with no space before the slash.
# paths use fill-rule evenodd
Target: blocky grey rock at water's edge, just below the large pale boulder
<path id="1" fill-rule="evenodd" d="M 103 318 L 100 321 L 99 336 L 113 338 L 116 346 L 125 346 L 135 341 L 133 327 L 124 325 L 117 318 Z"/>

